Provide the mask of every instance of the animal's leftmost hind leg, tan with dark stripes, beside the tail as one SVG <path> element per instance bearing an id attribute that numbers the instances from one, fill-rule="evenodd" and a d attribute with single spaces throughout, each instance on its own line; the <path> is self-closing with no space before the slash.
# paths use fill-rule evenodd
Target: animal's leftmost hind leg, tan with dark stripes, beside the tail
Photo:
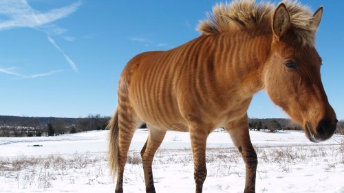
<path id="1" fill-rule="evenodd" d="M 115 193 L 123 192 L 123 173 L 127 162 L 128 150 L 136 128 L 142 124 L 134 111 L 123 104 L 118 106 L 118 174 Z"/>

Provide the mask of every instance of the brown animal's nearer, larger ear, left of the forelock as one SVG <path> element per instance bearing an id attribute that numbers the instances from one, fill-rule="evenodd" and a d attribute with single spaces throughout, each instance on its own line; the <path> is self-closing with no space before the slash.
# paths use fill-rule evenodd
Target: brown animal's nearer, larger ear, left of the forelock
<path id="1" fill-rule="evenodd" d="M 285 34 L 290 26 L 290 15 L 284 3 L 279 3 L 272 17 L 272 31 L 277 39 Z"/>

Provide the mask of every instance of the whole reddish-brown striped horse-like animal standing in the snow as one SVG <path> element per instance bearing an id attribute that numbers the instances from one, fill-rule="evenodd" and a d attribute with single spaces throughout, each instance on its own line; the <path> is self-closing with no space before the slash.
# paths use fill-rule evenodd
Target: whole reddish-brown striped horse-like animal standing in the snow
<path id="1" fill-rule="evenodd" d="M 140 154 L 146 192 L 155 192 L 152 161 L 167 130 L 190 133 L 195 192 L 206 179 L 206 139 L 224 127 L 246 165 L 244 192 L 255 192 L 257 154 L 248 133 L 252 96 L 266 89 L 272 102 L 303 126 L 313 142 L 329 139 L 336 114 L 321 82 L 314 39 L 323 7 L 314 14 L 296 1 L 219 3 L 200 21 L 197 38 L 167 51 L 134 56 L 118 82 L 109 121 L 109 167 L 122 193 L 133 133 L 146 123 Z"/>

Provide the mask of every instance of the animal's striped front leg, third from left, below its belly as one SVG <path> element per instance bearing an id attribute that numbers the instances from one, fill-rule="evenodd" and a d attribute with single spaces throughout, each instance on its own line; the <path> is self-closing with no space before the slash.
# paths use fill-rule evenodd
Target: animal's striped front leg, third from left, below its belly
<path id="1" fill-rule="evenodd" d="M 206 139 L 208 133 L 202 130 L 204 126 L 192 126 L 190 128 L 191 148 L 193 151 L 194 179 L 196 193 L 202 193 L 203 183 L 206 179 Z"/>

